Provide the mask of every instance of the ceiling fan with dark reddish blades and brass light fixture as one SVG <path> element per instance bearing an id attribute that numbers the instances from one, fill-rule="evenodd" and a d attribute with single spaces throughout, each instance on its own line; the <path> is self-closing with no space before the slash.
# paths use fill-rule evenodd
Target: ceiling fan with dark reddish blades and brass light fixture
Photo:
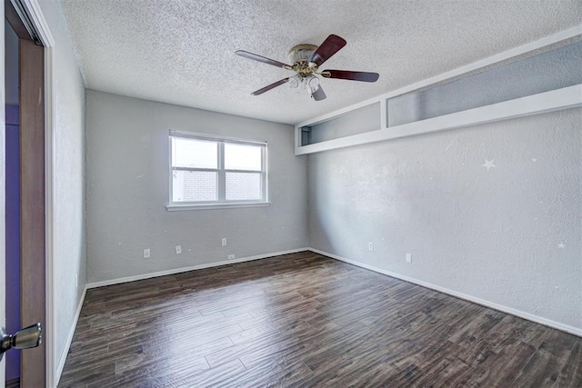
<path id="1" fill-rule="evenodd" d="M 266 85 L 265 87 L 256 90 L 251 95 L 262 95 L 263 93 L 276 88 L 276 86 L 289 83 L 291 87 L 302 85 L 314 100 L 321 101 L 326 98 L 326 93 L 319 84 L 319 78 L 317 75 L 321 75 L 324 78 L 347 79 L 363 82 L 376 82 L 379 77 L 377 73 L 353 72 L 349 70 L 324 70 L 319 72 L 319 66 L 323 65 L 327 59 L 331 58 L 332 55 L 335 55 L 345 45 L 346 40 L 337 35 L 327 36 L 324 43 L 320 46 L 296 45 L 289 51 L 289 58 L 293 65 L 286 65 L 274 59 L 269 59 L 265 56 L 256 55 L 243 50 L 238 50 L 235 54 L 267 65 L 274 65 L 296 72 L 296 75 L 283 78 L 271 85 Z"/>

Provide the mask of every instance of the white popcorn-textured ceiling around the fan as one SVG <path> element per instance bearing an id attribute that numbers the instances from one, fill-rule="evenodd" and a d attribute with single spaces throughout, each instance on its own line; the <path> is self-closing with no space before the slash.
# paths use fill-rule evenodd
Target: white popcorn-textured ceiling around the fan
<path id="1" fill-rule="evenodd" d="M 582 23 L 580 0 L 59 0 L 91 89 L 296 124 Z M 235 55 L 288 63 L 327 35 L 346 47 L 325 68 L 371 71 L 376 84 L 324 79 L 327 99 L 282 85 L 292 75 Z"/>

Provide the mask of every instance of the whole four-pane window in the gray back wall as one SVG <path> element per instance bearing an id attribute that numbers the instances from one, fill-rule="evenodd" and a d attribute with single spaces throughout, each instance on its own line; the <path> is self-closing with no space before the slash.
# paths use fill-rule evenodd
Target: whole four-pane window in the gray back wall
<path id="1" fill-rule="evenodd" d="M 168 208 L 266 204 L 266 142 L 170 131 Z"/>

